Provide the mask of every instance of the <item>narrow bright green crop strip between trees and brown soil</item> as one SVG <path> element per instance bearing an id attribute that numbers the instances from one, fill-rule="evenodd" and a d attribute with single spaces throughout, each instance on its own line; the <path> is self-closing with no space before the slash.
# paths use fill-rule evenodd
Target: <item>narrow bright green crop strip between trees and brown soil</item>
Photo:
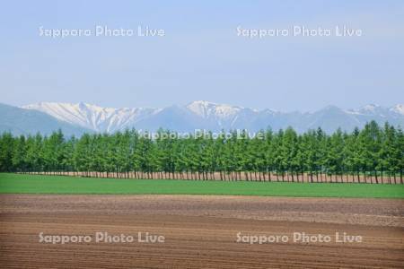
<path id="1" fill-rule="evenodd" d="M 1 194 L 262 195 L 404 198 L 403 185 L 69 178 L 0 173 Z"/>

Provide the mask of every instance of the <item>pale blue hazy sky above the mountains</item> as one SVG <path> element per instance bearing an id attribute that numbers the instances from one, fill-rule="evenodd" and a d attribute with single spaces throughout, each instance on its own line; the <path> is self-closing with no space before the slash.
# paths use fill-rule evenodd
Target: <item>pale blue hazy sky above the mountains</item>
<path id="1" fill-rule="evenodd" d="M 243 2 L 243 4 L 242 4 Z M 345 2 L 345 3 L 343 3 Z M 169 4 L 170 3 L 170 4 Z M 40 36 L 135 30 L 131 37 Z M 163 37 L 138 37 L 137 27 Z M 335 27 L 361 30 L 336 37 Z M 244 30 L 290 30 L 249 38 Z M 294 26 L 331 36 L 292 36 Z M 404 1 L 3 1 L 0 102 L 314 110 L 404 103 Z"/>

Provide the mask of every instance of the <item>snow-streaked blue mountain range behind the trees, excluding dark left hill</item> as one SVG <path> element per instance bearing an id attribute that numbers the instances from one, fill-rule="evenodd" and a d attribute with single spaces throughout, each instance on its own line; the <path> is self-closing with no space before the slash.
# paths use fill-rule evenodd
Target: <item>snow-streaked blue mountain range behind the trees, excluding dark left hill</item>
<path id="1" fill-rule="evenodd" d="M 288 126 L 298 132 L 319 126 L 326 132 L 332 132 L 338 127 L 350 131 L 356 126 L 364 126 L 370 120 L 380 124 L 389 121 L 392 125 L 404 126 L 402 104 L 391 108 L 367 105 L 349 110 L 329 106 L 310 113 L 257 110 L 203 100 L 168 108 L 101 108 L 86 103 L 52 102 L 40 102 L 23 108 L 39 110 L 75 126 L 109 133 L 126 128 L 193 132 L 195 129 L 258 131 L 268 127 L 277 130 Z"/>

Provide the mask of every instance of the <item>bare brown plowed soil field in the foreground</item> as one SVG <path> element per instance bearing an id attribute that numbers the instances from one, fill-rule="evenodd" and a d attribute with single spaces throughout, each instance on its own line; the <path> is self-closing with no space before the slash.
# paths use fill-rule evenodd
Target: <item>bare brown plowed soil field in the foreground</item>
<path id="1" fill-rule="evenodd" d="M 163 243 L 40 242 L 162 235 Z M 361 236 L 336 242 L 335 233 Z M 285 235 L 249 244 L 242 235 Z M 294 242 L 293 234 L 330 242 Z M 1 268 L 404 268 L 404 201 L 209 195 L 0 195 Z"/>

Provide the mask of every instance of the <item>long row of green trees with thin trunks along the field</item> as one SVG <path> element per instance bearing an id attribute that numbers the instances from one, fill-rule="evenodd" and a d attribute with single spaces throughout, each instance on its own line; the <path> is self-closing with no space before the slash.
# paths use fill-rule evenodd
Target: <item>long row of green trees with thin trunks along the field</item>
<path id="1" fill-rule="evenodd" d="M 293 128 L 157 138 L 127 130 L 66 138 L 0 136 L 0 171 L 118 178 L 401 183 L 402 130 L 374 121 L 351 133 Z M 224 133 L 223 133 L 224 134 Z"/>

